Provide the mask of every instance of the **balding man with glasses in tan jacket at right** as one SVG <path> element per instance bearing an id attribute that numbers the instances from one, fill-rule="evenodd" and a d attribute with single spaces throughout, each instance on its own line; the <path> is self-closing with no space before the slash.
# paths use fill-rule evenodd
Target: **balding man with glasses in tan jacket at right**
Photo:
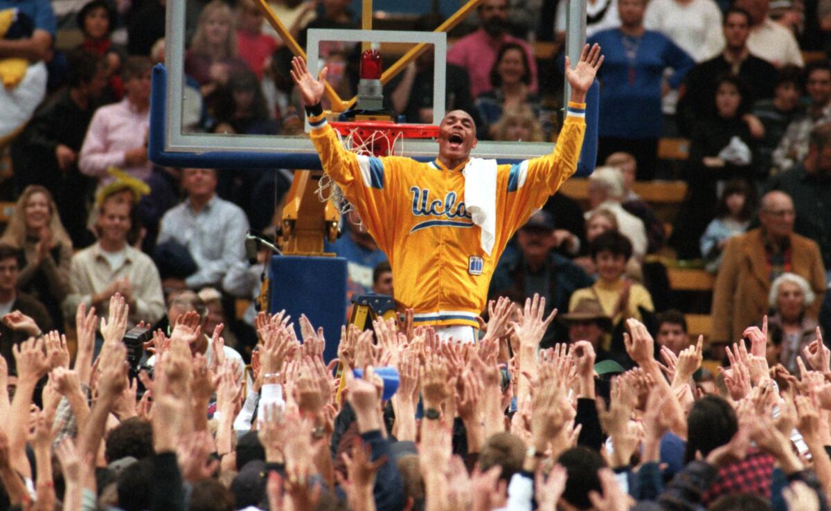
<path id="1" fill-rule="evenodd" d="M 816 317 L 825 294 L 825 269 L 817 243 L 794 233 L 794 202 L 772 191 L 762 197 L 760 228 L 731 238 L 715 279 L 711 342 L 736 342 L 746 327 L 768 312 L 770 283 L 784 272 L 804 277 L 817 295 L 808 314 Z"/>

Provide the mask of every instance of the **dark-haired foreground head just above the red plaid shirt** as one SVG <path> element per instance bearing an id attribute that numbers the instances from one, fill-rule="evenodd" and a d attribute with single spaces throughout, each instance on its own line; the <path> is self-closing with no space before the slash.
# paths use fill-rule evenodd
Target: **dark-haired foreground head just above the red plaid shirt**
<path id="1" fill-rule="evenodd" d="M 711 450 L 726 445 L 739 425 L 730 403 L 718 396 L 704 396 L 692 405 L 686 428 L 685 464 L 696 459 L 698 451 L 706 457 Z"/>

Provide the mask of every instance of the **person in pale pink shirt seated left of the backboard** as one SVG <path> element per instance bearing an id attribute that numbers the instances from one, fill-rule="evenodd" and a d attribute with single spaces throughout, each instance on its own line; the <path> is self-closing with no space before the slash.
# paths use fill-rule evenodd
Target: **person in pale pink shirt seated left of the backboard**
<path id="1" fill-rule="evenodd" d="M 107 174 L 110 166 L 125 170 L 137 179 L 150 177 L 153 170 L 153 164 L 147 160 L 150 66 L 149 57 L 128 57 L 121 67 L 124 99 L 101 106 L 92 115 L 78 167 L 83 174 L 98 178 L 99 184 L 114 179 Z"/>

